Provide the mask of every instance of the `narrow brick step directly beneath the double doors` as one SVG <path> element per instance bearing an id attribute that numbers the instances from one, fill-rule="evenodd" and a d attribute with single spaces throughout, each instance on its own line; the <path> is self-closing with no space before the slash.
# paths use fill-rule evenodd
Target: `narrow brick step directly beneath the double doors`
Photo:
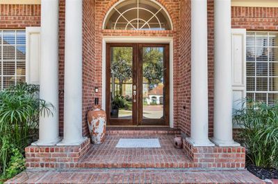
<path id="1" fill-rule="evenodd" d="M 107 127 L 106 129 L 108 136 L 157 134 L 181 134 L 181 131 L 170 127 Z"/>

